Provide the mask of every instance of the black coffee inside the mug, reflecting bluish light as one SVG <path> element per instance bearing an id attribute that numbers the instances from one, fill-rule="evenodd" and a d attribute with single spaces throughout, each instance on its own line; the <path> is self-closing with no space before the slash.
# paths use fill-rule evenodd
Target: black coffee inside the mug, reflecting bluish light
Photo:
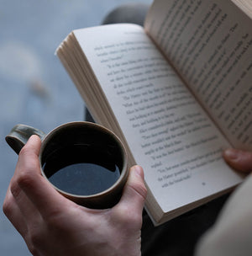
<path id="1" fill-rule="evenodd" d="M 120 170 L 108 152 L 73 145 L 53 152 L 43 165 L 58 189 L 74 195 L 94 195 L 110 188 Z"/>

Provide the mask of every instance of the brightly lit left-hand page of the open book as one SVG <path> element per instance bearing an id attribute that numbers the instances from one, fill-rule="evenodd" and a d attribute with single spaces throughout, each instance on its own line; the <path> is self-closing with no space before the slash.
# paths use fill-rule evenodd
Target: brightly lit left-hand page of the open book
<path id="1" fill-rule="evenodd" d="M 241 181 L 221 157 L 228 142 L 141 27 L 108 25 L 74 35 L 163 211 Z"/>

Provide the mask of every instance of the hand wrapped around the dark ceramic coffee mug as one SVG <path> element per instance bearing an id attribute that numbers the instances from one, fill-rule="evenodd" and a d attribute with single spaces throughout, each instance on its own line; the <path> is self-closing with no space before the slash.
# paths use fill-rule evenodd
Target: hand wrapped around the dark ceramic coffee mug
<path id="1" fill-rule="evenodd" d="M 19 153 L 3 211 L 34 255 L 140 255 L 146 189 L 143 170 L 130 169 L 112 209 L 92 210 L 60 195 L 40 174 L 38 136 Z"/>

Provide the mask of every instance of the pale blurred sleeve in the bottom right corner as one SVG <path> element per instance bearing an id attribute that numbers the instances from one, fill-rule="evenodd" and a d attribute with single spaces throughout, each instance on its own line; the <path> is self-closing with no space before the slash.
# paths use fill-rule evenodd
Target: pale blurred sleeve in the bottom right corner
<path id="1" fill-rule="evenodd" d="M 200 239 L 196 256 L 252 255 L 252 175 L 230 196 L 214 226 Z"/>

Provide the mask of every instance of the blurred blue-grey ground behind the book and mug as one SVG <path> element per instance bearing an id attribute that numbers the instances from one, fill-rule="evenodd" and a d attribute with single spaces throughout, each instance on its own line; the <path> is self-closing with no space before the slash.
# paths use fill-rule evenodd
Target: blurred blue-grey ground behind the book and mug
<path id="1" fill-rule="evenodd" d="M 1 208 L 18 159 L 4 139 L 13 125 L 32 125 L 48 132 L 84 119 L 83 101 L 55 49 L 71 30 L 101 24 L 109 11 L 124 3 L 129 1 L 0 0 Z M 3 256 L 30 255 L 2 209 L 0 252 Z"/>

